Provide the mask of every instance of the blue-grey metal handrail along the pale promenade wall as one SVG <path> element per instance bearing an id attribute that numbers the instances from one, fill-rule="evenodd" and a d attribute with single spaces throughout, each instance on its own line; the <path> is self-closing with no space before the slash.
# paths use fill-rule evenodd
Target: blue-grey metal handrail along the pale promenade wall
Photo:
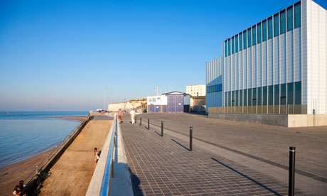
<path id="1" fill-rule="evenodd" d="M 108 196 L 110 192 L 111 179 L 114 178 L 114 147 L 117 147 L 117 114 L 114 115 L 114 129 L 110 139 L 107 162 L 104 168 L 100 196 Z"/>

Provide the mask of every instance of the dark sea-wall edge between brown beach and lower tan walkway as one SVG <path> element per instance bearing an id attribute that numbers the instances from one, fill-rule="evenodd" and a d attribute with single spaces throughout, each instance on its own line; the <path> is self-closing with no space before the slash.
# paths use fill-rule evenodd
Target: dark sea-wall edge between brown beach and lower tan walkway
<path id="1" fill-rule="evenodd" d="M 50 170 L 50 168 L 53 167 L 53 165 L 55 165 L 55 163 L 59 160 L 59 158 L 63 155 L 63 153 L 65 152 L 65 150 L 70 146 L 71 143 L 73 143 L 73 141 L 75 140 L 75 138 L 80 134 L 80 132 L 82 131 L 82 129 L 84 129 L 84 127 L 89 123 L 89 121 L 91 121 L 94 118 L 94 116 L 87 116 L 87 118 L 82 121 L 82 123 L 80 124 L 80 126 L 77 127 L 77 129 L 75 129 L 75 131 L 68 135 L 68 137 L 63 140 L 63 142 L 60 144 L 60 146 L 56 146 L 55 148 L 55 153 L 53 153 L 52 156 L 48 156 L 45 161 L 45 163 L 43 165 L 38 165 L 36 167 L 35 170 L 33 170 L 30 175 L 28 175 L 28 177 L 26 178 L 28 180 L 28 182 L 26 183 L 26 187 L 24 192 L 26 193 L 26 195 L 35 195 L 37 190 L 38 190 L 38 186 L 41 185 L 41 183 L 45 180 L 45 178 L 48 175 L 48 172 Z M 44 160 L 43 160 L 44 162 Z"/>

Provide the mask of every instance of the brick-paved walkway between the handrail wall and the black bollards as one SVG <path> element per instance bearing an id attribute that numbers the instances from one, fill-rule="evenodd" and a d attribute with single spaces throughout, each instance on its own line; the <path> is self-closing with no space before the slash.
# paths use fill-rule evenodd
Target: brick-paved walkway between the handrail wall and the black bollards
<path id="1" fill-rule="evenodd" d="M 136 196 L 288 195 L 285 183 L 197 146 L 190 152 L 178 138 L 127 120 L 121 127 Z M 296 195 L 308 194 L 296 190 Z"/>

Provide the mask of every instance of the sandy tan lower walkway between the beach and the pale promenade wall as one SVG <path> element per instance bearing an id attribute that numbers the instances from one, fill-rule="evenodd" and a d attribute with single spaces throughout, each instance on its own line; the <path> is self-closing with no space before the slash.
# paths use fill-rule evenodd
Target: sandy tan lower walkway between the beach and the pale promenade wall
<path id="1" fill-rule="evenodd" d="M 95 114 L 49 172 L 40 195 L 85 195 L 95 170 L 94 148 L 102 150 L 112 118 Z"/>

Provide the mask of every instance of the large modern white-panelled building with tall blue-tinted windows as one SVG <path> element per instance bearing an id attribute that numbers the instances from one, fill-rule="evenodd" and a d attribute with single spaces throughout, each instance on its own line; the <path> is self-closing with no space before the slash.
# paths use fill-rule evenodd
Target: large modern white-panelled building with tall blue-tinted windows
<path id="1" fill-rule="evenodd" d="M 326 9 L 302 0 L 224 40 L 206 62 L 209 116 L 327 125 L 326 26 Z"/>

